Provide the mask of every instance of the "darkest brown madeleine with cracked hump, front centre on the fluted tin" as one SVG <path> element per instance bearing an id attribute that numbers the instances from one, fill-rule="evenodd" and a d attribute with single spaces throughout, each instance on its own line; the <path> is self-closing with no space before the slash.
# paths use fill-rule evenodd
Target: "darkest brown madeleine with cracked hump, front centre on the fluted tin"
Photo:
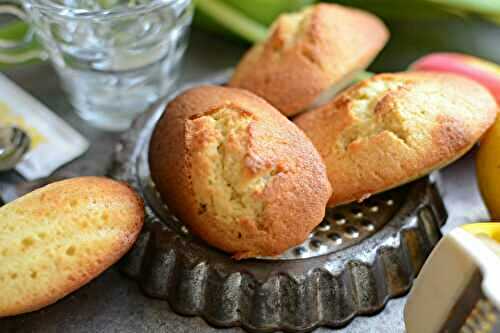
<path id="1" fill-rule="evenodd" d="M 203 86 L 174 99 L 150 143 L 169 209 L 235 258 L 277 255 L 321 222 L 331 194 L 310 140 L 263 99 Z"/>

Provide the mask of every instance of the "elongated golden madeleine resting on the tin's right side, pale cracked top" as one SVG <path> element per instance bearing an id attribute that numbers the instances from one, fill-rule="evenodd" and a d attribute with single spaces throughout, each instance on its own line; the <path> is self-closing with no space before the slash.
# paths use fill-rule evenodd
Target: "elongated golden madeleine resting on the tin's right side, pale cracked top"
<path id="1" fill-rule="evenodd" d="M 320 152 L 333 186 L 329 205 L 362 200 L 441 168 L 493 124 L 495 100 L 452 74 L 381 74 L 295 123 Z"/>

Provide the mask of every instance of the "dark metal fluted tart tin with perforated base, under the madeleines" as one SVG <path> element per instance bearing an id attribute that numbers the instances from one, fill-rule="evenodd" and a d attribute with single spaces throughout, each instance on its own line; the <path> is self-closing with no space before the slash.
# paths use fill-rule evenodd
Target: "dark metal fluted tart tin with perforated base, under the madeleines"
<path id="1" fill-rule="evenodd" d="M 196 85 L 228 77 L 225 72 Z M 235 261 L 191 235 L 154 189 L 148 144 L 166 100 L 123 135 L 110 171 L 146 202 L 145 227 L 121 262 L 146 295 L 216 326 L 305 332 L 374 314 L 409 289 L 447 218 L 428 177 L 328 209 L 309 239 L 282 256 Z"/>

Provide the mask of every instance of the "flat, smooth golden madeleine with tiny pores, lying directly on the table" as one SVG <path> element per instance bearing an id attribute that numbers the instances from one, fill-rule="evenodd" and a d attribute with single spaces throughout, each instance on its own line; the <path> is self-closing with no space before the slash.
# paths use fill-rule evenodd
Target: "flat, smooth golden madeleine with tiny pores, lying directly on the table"
<path id="1" fill-rule="evenodd" d="M 80 288 L 132 246 L 144 221 L 127 185 L 63 180 L 0 208 L 0 317 L 40 309 Z"/>

